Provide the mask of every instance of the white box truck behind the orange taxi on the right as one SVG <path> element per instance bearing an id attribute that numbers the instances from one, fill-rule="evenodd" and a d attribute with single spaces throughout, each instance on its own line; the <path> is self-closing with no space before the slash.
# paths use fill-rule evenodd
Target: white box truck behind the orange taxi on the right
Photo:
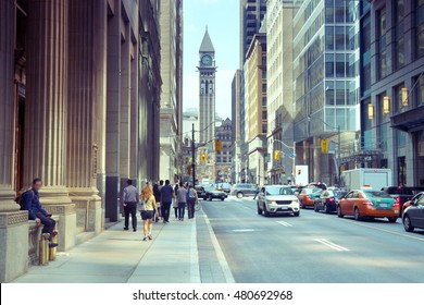
<path id="1" fill-rule="evenodd" d="M 341 178 L 347 191 L 370 186 L 375 191 L 391 185 L 390 169 L 354 169 L 344 171 Z"/>

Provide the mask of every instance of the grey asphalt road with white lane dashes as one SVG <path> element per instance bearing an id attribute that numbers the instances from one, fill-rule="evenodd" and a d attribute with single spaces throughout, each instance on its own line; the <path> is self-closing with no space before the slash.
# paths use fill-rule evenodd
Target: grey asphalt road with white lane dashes
<path id="1" fill-rule="evenodd" d="M 250 198 L 202 202 L 236 282 L 424 283 L 424 231 L 301 210 L 257 213 Z"/>

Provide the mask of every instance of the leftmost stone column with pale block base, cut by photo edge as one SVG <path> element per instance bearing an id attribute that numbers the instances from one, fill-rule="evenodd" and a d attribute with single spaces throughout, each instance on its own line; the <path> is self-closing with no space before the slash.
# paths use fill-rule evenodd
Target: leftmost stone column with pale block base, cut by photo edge
<path id="1" fill-rule="evenodd" d="M 0 1 L 0 282 L 28 269 L 28 213 L 13 202 L 15 4 Z"/>

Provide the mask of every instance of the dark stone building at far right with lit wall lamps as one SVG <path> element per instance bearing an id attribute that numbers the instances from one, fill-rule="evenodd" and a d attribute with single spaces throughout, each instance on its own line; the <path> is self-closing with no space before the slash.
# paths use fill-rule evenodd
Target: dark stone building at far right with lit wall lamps
<path id="1" fill-rule="evenodd" d="M 395 184 L 424 186 L 424 1 L 361 3 L 361 131 Z"/>

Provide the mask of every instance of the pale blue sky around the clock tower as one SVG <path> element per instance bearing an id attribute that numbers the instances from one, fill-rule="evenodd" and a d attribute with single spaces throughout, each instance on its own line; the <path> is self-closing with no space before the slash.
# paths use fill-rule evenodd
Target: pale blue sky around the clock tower
<path id="1" fill-rule="evenodd" d="M 232 81 L 239 66 L 239 0 L 184 0 L 184 109 L 199 106 L 199 48 L 208 26 L 215 48 L 216 112 L 232 118 Z"/>

